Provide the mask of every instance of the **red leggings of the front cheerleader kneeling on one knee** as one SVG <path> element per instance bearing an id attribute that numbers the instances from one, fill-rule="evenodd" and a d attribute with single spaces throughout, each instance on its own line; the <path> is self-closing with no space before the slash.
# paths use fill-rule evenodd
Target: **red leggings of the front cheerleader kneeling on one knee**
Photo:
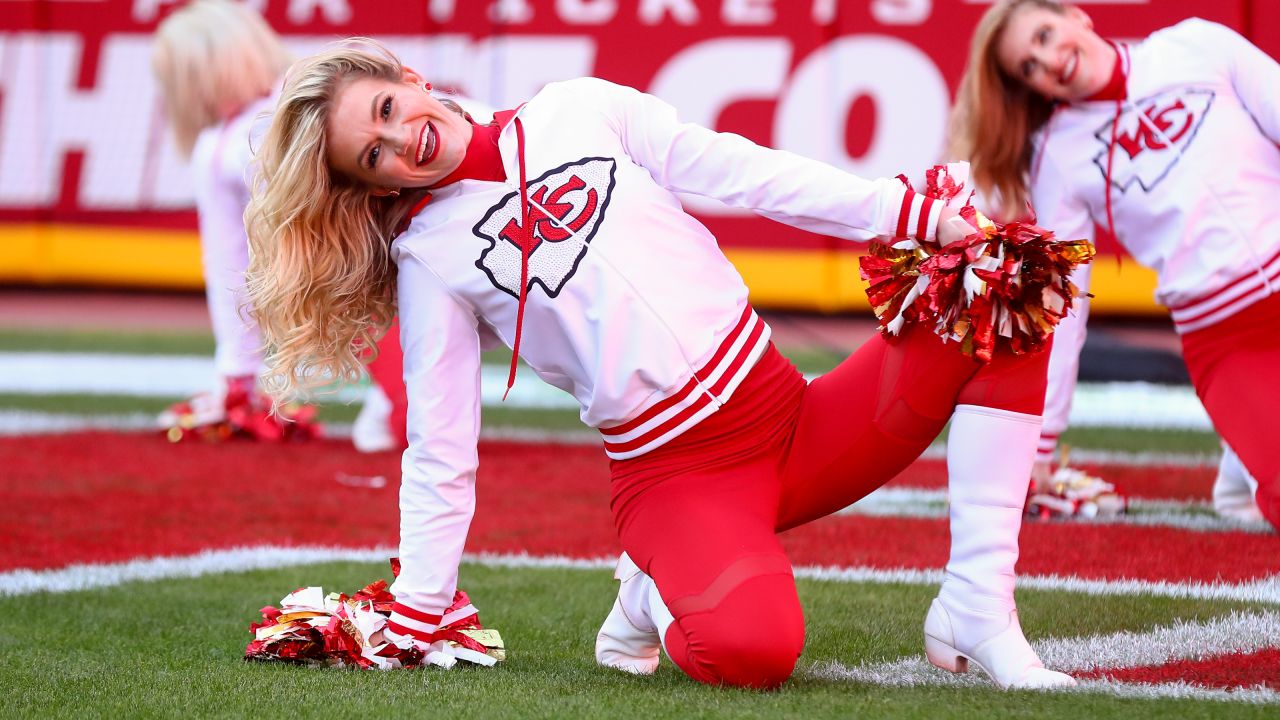
<path id="1" fill-rule="evenodd" d="M 772 688 L 804 646 L 777 533 L 878 488 L 957 404 L 1038 415 L 1048 352 L 979 365 L 927 328 L 877 336 L 805 383 L 772 346 L 728 405 L 653 452 L 612 462 L 622 547 L 675 616 L 672 660 L 712 684 Z"/>

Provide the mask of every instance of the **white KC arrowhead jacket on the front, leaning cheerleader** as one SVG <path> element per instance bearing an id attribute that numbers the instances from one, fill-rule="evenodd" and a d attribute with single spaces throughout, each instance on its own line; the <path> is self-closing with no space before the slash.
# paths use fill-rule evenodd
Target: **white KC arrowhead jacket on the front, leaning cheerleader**
<path id="1" fill-rule="evenodd" d="M 453 597 L 475 503 L 481 346 L 518 345 L 614 459 L 714 413 L 767 347 L 741 277 L 673 192 L 850 240 L 933 237 L 941 211 L 897 181 L 682 124 L 660 100 L 593 78 L 547 86 L 506 118 L 499 150 L 506 183 L 433 191 L 392 246 L 410 397 L 393 634 L 426 638 Z M 517 323 L 522 170 L 534 238 Z"/>

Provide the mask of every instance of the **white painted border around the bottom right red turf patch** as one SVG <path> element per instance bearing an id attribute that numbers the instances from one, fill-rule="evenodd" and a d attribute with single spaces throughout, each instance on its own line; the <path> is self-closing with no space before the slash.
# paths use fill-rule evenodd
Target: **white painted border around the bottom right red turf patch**
<path id="1" fill-rule="evenodd" d="M 1280 612 L 1233 612 L 1206 623 L 1178 620 L 1146 633 L 1120 632 L 1084 638 L 1051 638 L 1032 643 L 1047 667 L 1064 673 L 1096 669 L 1124 669 L 1164 665 L 1176 660 L 1207 660 L 1230 653 L 1248 653 L 1280 647 Z M 891 662 L 845 666 L 840 662 L 815 665 L 810 675 L 887 687 L 987 687 L 989 680 L 974 669 L 956 675 L 940 670 L 923 657 L 904 657 Z M 1249 703 L 1280 702 L 1280 694 L 1266 688 L 1222 691 L 1185 683 L 1149 684 L 1116 680 L 1083 680 L 1069 693 L 1106 693 L 1134 698 L 1188 698 Z"/>

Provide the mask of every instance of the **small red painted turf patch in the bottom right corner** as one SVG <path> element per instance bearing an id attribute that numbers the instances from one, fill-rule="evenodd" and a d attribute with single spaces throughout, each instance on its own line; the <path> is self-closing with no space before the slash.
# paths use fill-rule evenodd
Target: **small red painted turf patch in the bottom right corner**
<path id="1" fill-rule="evenodd" d="M 1187 683 L 1202 688 L 1236 689 L 1265 687 L 1280 691 L 1280 650 L 1220 655 L 1207 660 L 1179 660 L 1146 667 L 1121 667 L 1073 673 L 1078 679 L 1108 679 L 1123 683 Z"/>

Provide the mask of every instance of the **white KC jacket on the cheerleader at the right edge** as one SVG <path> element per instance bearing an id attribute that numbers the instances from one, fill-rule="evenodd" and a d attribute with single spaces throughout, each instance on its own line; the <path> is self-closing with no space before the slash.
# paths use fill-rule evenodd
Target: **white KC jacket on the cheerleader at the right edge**
<path id="1" fill-rule="evenodd" d="M 1059 237 L 1119 241 L 1158 277 L 1179 332 L 1280 290 L 1280 65 L 1234 31 L 1189 19 L 1121 46 L 1126 99 L 1064 105 L 1037 137 L 1032 204 Z M 1088 290 L 1089 265 L 1078 270 Z M 1087 300 L 1059 325 L 1041 457 L 1066 428 Z"/>

